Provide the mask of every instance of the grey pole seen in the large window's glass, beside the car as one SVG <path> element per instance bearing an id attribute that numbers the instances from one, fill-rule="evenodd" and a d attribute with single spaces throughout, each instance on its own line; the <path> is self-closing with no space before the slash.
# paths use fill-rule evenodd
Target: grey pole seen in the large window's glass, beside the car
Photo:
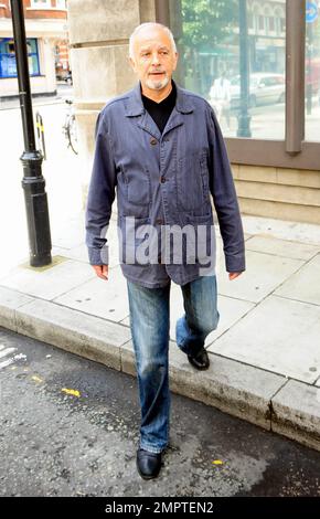
<path id="1" fill-rule="evenodd" d="M 247 2 L 239 0 L 239 114 L 237 137 L 250 137 Z"/>

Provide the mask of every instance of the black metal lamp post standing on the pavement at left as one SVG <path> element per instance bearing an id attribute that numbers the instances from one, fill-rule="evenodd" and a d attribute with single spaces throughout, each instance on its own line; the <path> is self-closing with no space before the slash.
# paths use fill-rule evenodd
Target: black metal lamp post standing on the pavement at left
<path id="1" fill-rule="evenodd" d="M 35 148 L 22 0 L 11 0 L 11 11 L 24 139 L 24 151 L 20 160 L 23 167 L 22 188 L 29 232 L 30 264 L 43 266 L 52 262 L 52 245 L 45 180 L 41 171 L 43 157 Z"/>

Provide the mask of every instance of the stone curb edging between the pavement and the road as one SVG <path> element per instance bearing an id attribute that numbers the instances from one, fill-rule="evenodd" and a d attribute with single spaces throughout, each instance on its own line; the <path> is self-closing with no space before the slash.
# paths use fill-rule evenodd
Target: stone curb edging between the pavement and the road
<path id="1" fill-rule="evenodd" d="M 136 377 L 130 329 L 0 286 L 0 326 Z M 195 371 L 170 341 L 170 389 L 320 451 L 320 386 L 211 353 Z"/>

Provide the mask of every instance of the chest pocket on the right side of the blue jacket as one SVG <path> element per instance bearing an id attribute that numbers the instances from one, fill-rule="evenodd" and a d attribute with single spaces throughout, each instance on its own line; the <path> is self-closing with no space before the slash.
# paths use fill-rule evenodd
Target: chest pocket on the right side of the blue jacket
<path id="1" fill-rule="evenodd" d="M 209 171 L 205 152 L 194 152 L 178 159 L 178 205 L 183 211 L 194 211 L 209 200 Z"/>

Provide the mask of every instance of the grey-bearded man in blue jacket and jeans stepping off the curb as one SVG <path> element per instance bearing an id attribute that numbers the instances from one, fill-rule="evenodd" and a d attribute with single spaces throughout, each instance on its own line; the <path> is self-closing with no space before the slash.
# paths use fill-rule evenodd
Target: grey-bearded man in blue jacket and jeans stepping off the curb
<path id="1" fill-rule="evenodd" d="M 137 467 L 145 479 L 158 476 L 169 442 L 171 280 L 181 285 L 185 310 L 177 322 L 177 343 L 194 369 L 210 366 L 204 340 L 218 321 L 210 193 L 230 279 L 245 269 L 242 222 L 223 138 L 211 106 L 172 81 L 177 61 L 169 29 L 145 23 L 135 30 L 130 62 L 139 84 L 99 114 L 86 210 L 89 262 L 106 280 L 105 235 L 117 191 L 141 405 Z"/>

